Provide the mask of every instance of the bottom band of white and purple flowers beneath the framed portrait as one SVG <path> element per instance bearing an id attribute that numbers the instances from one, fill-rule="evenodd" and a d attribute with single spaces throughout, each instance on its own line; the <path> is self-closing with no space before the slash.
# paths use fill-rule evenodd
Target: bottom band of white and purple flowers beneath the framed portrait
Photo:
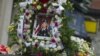
<path id="1" fill-rule="evenodd" d="M 39 39 L 27 39 L 27 41 L 19 40 L 20 48 L 16 50 L 17 55 L 42 55 L 53 56 L 60 55 L 62 52 L 62 46 L 57 45 L 55 39 L 39 40 Z"/>

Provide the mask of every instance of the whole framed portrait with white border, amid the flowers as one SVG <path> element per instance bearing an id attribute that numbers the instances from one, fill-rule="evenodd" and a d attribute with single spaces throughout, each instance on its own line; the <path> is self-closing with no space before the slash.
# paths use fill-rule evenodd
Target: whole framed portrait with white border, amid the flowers
<path id="1" fill-rule="evenodd" d="M 53 19 L 53 15 L 46 15 L 44 13 L 39 13 L 35 16 L 34 24 L 33 24 L 33 37 L 37 37 L 38 39 L 50 39 L 52 37 L 51 34 L 51 21 Z"/>

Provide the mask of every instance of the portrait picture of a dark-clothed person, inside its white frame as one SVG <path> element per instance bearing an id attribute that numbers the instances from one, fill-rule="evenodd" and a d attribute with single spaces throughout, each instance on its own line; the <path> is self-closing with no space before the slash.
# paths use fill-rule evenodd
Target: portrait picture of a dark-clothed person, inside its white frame
<path id="1" fill-rule="evenodd" d="M 35 32 L 35 35 L 37 36 L 43 36 L 43 37 L 50 37 L 50 29 L 49 29 L 49 26 L 50 26 L 50 22 L 51 22 L 51 19 L 50 17 L 46 16 L 46 15 L 38 15 L 37 18 L 36 18 L 36 27 L 34 32 Z"/>

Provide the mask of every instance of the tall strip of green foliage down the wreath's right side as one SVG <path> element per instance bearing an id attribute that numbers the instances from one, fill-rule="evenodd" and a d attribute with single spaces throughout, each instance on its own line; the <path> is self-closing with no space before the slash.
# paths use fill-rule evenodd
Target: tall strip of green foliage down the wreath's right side
<path id="1" fill-rule="evenodd" d="M 66 10 L 73 12 L 72 3 L 67 0 L 66 4 L 63 5 Z M 64 45 L 65 51 L 67 50 L 68 56 L 74 56 L 75 52 L 78 50 L 78 44 L 71 40 L 71 36 L 74 34 L 74 30 L 69 28 L 68 23 L 72 21 L 72 17 L 69 17 L 66 14 L 66 10 L 63 13 L 62 27 L 60 28 L 61 40 Z"/>

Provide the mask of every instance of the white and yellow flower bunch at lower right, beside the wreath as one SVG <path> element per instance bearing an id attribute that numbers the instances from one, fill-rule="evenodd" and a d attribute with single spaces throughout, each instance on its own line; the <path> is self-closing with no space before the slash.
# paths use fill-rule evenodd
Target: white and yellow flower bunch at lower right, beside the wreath
<path id="1" fill-rule="evenodd" d="M 71 37 L 71 40 L 78 44 L 78 56 L 95 56 L 89 42 L 74 36 Z"/>

